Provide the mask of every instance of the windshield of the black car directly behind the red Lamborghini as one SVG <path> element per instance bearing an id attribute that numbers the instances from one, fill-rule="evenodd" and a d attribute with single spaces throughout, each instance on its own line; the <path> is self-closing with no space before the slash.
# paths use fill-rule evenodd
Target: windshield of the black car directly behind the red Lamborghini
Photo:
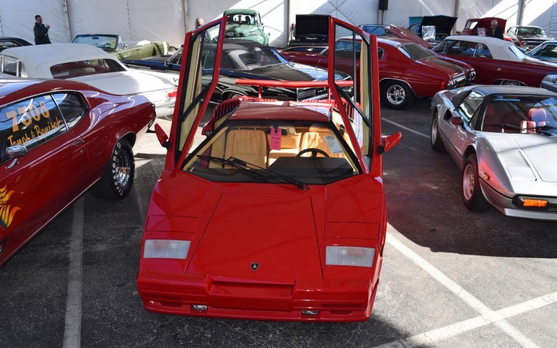
<path id="1" fill-rule="evenodd" d="M 272 47 L 244 47 L 242 49 L 226 49 L 225 47 L 221 68 L 251 70 L 285 63 L 288 61 Z"/>

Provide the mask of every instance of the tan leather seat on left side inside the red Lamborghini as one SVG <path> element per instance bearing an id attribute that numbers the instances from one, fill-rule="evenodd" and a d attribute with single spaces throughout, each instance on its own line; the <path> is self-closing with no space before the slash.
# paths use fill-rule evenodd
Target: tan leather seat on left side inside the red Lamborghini
<path id="1" fill-rule="evenodd" d="M 231 156 L 267 168 L 265 132 L 258 129 L 230 129 L 226 134 L 224 158 Z"/>

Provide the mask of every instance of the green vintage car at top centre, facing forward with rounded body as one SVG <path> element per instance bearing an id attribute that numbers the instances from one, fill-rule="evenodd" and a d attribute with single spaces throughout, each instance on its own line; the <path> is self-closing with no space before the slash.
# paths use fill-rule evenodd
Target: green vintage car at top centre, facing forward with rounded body
<path id="1" fill-rule="evenodd" d="M 227 40 L 251 40 L 262 45 L 269 45 L 269 34 L 261 23 L 261 16 L 256 10 L 235 8 L 224 11 L 226 18 Z"/>

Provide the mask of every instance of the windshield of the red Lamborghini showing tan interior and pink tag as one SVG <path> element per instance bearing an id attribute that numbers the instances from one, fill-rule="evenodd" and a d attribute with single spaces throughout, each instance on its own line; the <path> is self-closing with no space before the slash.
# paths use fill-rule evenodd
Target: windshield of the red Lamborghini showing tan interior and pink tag
<path id="1" fill-rule="evenodd" d="M 347 134 L 338 134 L 327 122 L 233 120 L 182 170 L 214 182 L 328 184 L 360 173 Z"/>

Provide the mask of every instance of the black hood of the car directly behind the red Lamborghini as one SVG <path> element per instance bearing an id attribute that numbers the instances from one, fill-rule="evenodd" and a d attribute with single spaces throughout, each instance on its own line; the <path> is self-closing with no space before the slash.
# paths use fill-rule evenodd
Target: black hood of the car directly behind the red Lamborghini
<path id="1" fill-rule="evenodd" d="M 262 68 L 247 70 L 250 74 L 283 81 L 325 81 L 327 70 L 313 68 L 310 65 L 286 63 L 267 65 Z M 336 72 L 335 79 L 342 80 L 348 77 L 344 72 Z"/>

